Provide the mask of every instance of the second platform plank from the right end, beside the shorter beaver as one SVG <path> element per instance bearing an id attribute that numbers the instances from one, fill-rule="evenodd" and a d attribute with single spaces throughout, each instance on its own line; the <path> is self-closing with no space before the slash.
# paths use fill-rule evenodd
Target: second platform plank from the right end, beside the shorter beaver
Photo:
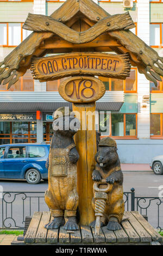
<path id="1" fill-rule="evenodd" d="M 143 226 L 139 223 L 139 221 L 136 220 L 136 218 L 134 217 L 133 214 L 131 214 L 131 212 L 129 212 L 129 211 L 126 212 L 125 216 L 128 217 L 129 223 L 135 229 L 136 233 L 139 235 L 141 242 L 151 242 L 152 241 L 151 235 L 149 235 L 149 233 L 147 233 L 145 228 L 143 228 Z"/>

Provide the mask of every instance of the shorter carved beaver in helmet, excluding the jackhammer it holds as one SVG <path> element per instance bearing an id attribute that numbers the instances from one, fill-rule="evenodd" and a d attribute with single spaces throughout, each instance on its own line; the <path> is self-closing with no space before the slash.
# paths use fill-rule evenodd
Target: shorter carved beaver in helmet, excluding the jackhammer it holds
<path id="1" fill-rule="evenodd" d="M 108 192 L 104 215 L 101 218 L 101 227 L 107 224 L 109 230 L 121 229 L 121 221 L 124 212 L 123 202 L 123 174 L 120 160 L 117 154 L 116 141 L 110 137 L 102 138 L 95 155 L 97 162 L 96 169 L 92 173 L 94 181 L 106 180 L 106 183 L 113 184 L 112 190 Z M 95 198 L 92 199 L 92 206 L 95 210 Z M 90 225 L 95 227 L 96 221 Z"/>

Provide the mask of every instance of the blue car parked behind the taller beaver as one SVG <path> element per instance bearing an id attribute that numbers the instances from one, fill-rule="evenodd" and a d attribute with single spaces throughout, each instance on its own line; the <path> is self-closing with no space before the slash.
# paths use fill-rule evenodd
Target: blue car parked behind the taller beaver
<path id="1" fill-rule="evenodd" d="M 49 144 L 0 145 L 0 179 L 26 179 L 38 184 L 48 179 Z"/>

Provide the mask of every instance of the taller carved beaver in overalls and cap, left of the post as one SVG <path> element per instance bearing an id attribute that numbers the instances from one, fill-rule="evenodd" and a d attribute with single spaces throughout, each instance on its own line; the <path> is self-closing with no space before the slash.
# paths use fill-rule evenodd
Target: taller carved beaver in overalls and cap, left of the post
<path id="1" fill-rule="evenodd" d="M 76 129 L 70 127 L 72 122 Z M 76 220 L 78 207 L 76 163 L 79 154 L 73 140 L 73 136 L 79 127 L 79 120 L 71 117 L 70 111 L 66 114 L 64 107 L 55 111 L 54 133 L 49 159 L 46 163 L 48 167 L 48 190 L 45 192 L 45 202 L 54 219 L 45 225 L 47 229 L 58 229 L 64 225 L 64 216 L 68 218 L 64 226 L 66 230 L 79 229 Z"/>

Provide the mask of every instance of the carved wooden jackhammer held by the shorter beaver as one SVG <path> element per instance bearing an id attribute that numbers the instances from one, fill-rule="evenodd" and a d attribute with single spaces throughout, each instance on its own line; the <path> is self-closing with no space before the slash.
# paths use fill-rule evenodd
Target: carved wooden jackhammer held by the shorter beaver
<path id="1" fill-rule="evenodd" d="M 106 188 L 99 188 L 99 185 L 106 184 Z M 105 179 L 101 181 L 95 181 L 93 184 L 94 198 L 95 198 L 95 235 L 99 235 L 99 230 L 101 228 L 101 217 L 105 211 L 107 193 L 112 190 L 112 184 L 106 183 Z"/>

